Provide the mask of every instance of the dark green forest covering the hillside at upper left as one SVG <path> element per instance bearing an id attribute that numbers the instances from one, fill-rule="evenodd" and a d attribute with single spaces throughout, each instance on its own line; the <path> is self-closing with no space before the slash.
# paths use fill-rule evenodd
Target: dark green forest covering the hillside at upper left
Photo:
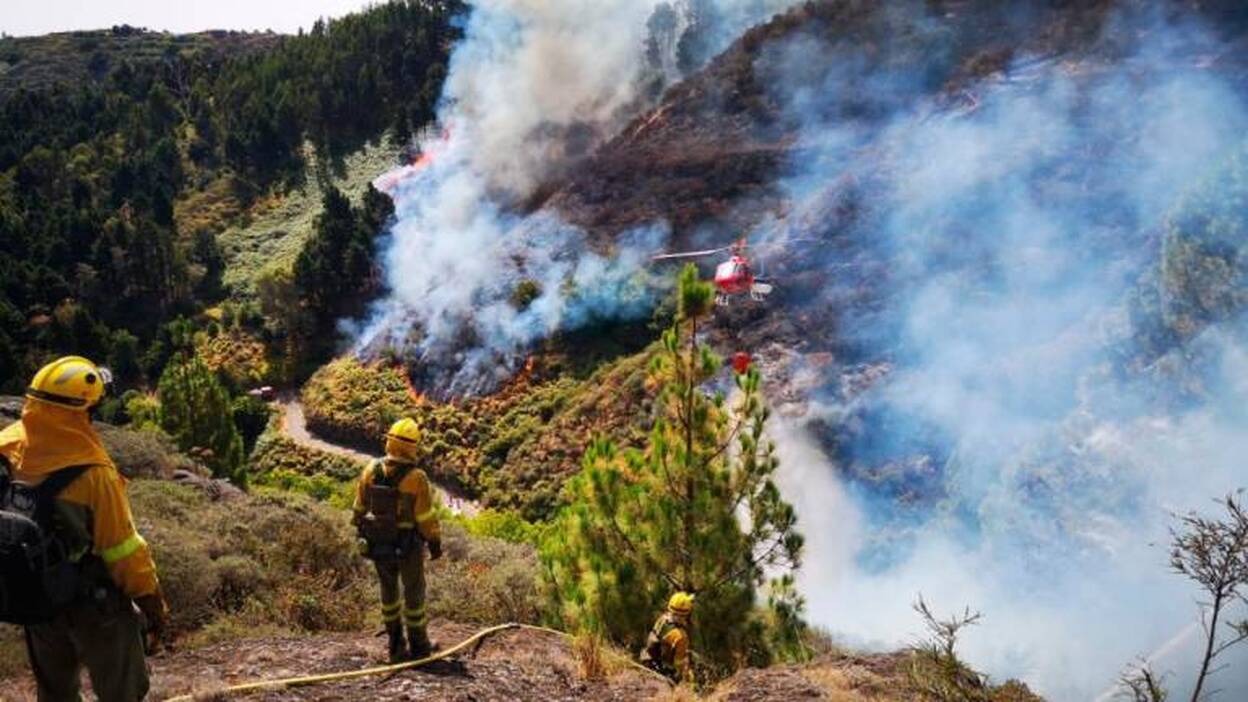
<path id="1" fill-rule="evenodd" d="M 67 352 L 110 363 L 122 388 L 154 385 L 190 339 L 180 330 L 218 324 L 205 310 L 233 296 L 222 229 L 432 120 L 462 10 L 389 2 L 282 37 L 116 26 L 0 39 L 0 390 Z M 371 239 L 388 199 L 359 194 L 352 207 L 322 192 L 291 280 L 268 281 L 297 310 L 253 325 L 280 351 L 332 346 L 301 344 L 324 341 L 327 325 L 332 341 L 332 319 L 377 282 Z"/>

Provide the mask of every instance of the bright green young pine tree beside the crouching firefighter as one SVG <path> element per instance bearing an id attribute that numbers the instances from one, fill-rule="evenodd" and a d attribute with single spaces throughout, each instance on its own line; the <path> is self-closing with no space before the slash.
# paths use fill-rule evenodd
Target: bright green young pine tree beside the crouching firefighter
<path id="1" fill-rule="evenodd" d="M 756 616 L 756 593 L 769 577 L 791 586 L 802 538 L 773 482 L 759 372 L 735 375 L 730 400 L 704 390 L 721 366 L 698 342 L 713 295 L 695 267 L 681 272 L 679 315 L 651 366 L 649 442 L 587 450 L 542 560 L 558 623 L 634 650 L 674 591 L 696 593 L 694 650 L 704 673 L 724 675 L 769 661 L 766 622 L 795 620 L 792 597 L 773 600 L 786 607 L 780 616 Z"/>

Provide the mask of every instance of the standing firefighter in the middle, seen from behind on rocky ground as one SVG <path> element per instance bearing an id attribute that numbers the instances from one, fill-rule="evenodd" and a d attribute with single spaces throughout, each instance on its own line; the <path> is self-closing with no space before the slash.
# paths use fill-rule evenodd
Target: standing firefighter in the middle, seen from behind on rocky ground
<path id="1" fill-rule="evenodd" d="M 442 557 L 442 531 L 429 478 L 417 466 L 422 455 L 416 421 L 394 422 L 386 435 L 386 458 L 364 468 L 356 491 L 353 523 L 361 552 L 377 566 L 392 663 L 423 658 L 436 648 L 427 631 L 423 548 L 428 546 L 431 560 Z"/>

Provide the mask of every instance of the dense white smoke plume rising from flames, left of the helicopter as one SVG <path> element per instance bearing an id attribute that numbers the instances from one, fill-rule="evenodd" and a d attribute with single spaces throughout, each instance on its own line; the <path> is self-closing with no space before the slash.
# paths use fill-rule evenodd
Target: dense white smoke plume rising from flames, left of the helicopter
<path id="1" fill-rule="evenodd" d="M 396 349 L 426 388 L 473 393 L 497 386 L 537 340 L 650 310 L 645 262 L 663 246 L 663 222 L 595 251 L 557 215 L 520 209 L 646 106 L 646 30 L 658 5 L 473 4 L 449 64 L 442 134 L 422 144 L 427 165 L 378 179 L 396 201 L 383 252 L 391 292 L 357 334 L 357 350 Z M 730 27 L 784 4 L 699 5 L 723 15 L 714 36 L 704 32 L 704 45 L 716 46 Z M 527 306 L 512 299 L 522 281 L 540 294 Z"/>

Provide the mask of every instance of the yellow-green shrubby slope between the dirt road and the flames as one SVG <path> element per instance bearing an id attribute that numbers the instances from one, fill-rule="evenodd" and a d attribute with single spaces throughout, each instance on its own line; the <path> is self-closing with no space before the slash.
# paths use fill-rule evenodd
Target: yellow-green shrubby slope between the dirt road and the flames
<path id="1" fill-rule="evenodd" d="M 434 478 L 490 507 L 542 520 L 558 507 L 559 490 L 593 435 L 622 446 L 641 442 L 650 357 L 650 350 L 624 356 L 585 378 L 542 380 L 533 371 L 495 395 L 458 403 L 414 396 L 398 367 L 347 357 L 317 371 L 302 397 L 313 431 L 362 448 L 376 448 L 398 417 L 417 418 L 437 456 Z"/>

